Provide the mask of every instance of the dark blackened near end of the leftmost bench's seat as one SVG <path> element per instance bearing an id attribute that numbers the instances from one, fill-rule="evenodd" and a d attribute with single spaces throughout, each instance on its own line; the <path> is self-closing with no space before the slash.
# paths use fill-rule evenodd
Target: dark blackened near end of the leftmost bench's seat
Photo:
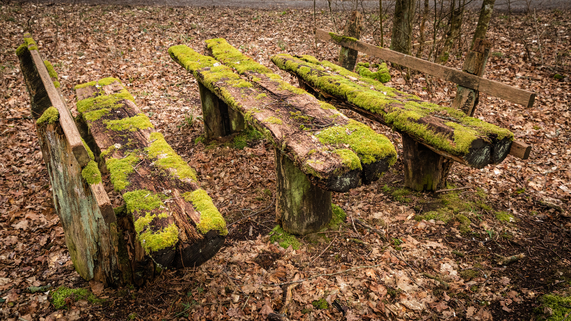
<path id="1" fill-rule="evenodd" d="M 201 266 L 220 250 L 226 236 L 220 235 L 218 230 L 211 230 L 204 235 L 204 239 L 198 242 L 181 244 L 182 250 L 176 251 L 176 257 L 172 266 L 176 268 Z"/>

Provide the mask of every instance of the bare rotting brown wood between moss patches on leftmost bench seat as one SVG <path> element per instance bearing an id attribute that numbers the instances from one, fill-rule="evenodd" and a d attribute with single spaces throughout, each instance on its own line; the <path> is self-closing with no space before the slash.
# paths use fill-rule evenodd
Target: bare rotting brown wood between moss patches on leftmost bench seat
<path id="1" fill-rule="evenodd" d="M 117 94 L 123 90 L 123 85 L 115 81 L 104 86 L 93 84 L 79 87 L 76 89 L 76 93 L 81 101 L 101 95 Z M 120 99 L 100 118 L 86 117 L 87 113 L 97 110 L 95 105 L 95 109 L 81 113 L 83 121 L 86 122 L 89 128 L 89 133 L 93 136 L 93 141 L 96 143 L 95 153 L 99 155 L 102 151 L 106 152 L 103 153 L 102 158 L 105 160 L 108 169 L 110 169 L 110 159 L 135 159 L 135 162 L 128 163 L 127 170 L 123 172 L 126 175 L 128 184 L 126 186 L 116 184 L 115 189 L 119 190 L 123 196 L 127 192 L 144 190 L 148 194 L 143 195 L 143 199 L 147 197 L 160 199 L 160 206 L 152 208 L 141 207 L 131 211 L 135 227 L 138 225 L 137 220 L 143 219 L 144 222 L 146 218 L 152 218 L 144 230 L 137 232 L 160 234 L 160 232 L 172 226 L 172 224 L 178 229 L 178 241 L 175 244 L 156 251 L 147 250 L 147 254 L 151 256 L 155 263 L 163 267 L 194 267 L 206 262 L 222 246 L 224 243 L 224 232 L 227 233 L 227 231 L 225 226 L 220 228 L 220 230 L 212 229 L 206 232 L 206 234 L 198 230 L 197 225 L 201 223 L 202 219 L 201 213 L 195 208 L 196 204 L 193 206 L 193 203 L 187 201 L 183 194 L 199 190 L 199 184 L 194 179 L 180 179 L 176 175 L 175 168 L 157 166 L 155 162 L 167 157 L 166 154 L 159 154 L 157 157 L 150 157 L 147 154 L 148 151 L 146 149 L 157 139 L 163 139 L 162 135 L 159 134 L 157 138 L 151 140 L 151 134 L 154 133 L 151 133 L 148 127 L 139 128 L 140 126 L 137 127 L 136 125 L 121 130 L 109 128 L 108 124 L 114 123 L 114 121 L 141 117 L 142 114 L 140 114 L 134 102 L 129 99 Z M 144 115 L 143 117 L 146 118 Z M 148 122 L 148 118 L 146 118 L 146 121 Z M 150 122 L 148 124 L 150 125 Z M 122 172 L 110 171 L 112 179 L 114 174 Z M 212 201 L 210 200 L 210 202 Z M 127 210 L 129 210 L 129 206 L 130 204 L 127 202 Z M 137 204 L 133 206 L 136 207 Z M 145 243 L 145 239 L 139 239 L 139 242 L 141 242 L 143 247 L 148 245 Z"/>

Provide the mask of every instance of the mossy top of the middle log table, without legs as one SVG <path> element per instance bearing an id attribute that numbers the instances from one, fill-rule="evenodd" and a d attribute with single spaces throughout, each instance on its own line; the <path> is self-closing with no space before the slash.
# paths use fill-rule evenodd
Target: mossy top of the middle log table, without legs
<path id="1" fill-rule="evenodd" d="M 208 47 L 213 49 L 215 42 L 227 45 L 223 39 L 212 39 Z M 225 50 L 227 57 L 217 56 L 221 62 L 251 81 L 186 46 L 173 46 L 169 53 L 229 107 L 243 114 L 313 184 L 329 191 L 347 191 L 359 183 L 363 166 L 379 162 L 387 168 L 396 160 L 396 151 L 387 138 L 292 87 L 267 67 L 243 59 L 233 47 Z M 376 178 L 380 174 L 376 171 Z"/>

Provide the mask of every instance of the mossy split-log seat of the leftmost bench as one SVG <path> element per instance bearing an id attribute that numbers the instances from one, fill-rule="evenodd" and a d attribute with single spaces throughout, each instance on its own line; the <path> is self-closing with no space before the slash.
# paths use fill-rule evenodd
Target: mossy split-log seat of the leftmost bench
<path id="1" fill-rule="evenodd" d="M 123 195 L 144 252 L 162 267 L 195 267 L 214 256 L 228 233 L 224 218 L 120 81 L 83 83 L 75 93 L 87 142 Z"/>

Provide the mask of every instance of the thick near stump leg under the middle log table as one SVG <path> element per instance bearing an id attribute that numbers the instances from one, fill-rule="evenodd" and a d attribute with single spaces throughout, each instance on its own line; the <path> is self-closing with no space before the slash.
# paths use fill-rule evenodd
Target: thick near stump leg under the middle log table
<path id="1" fill-rule="evenodd" d="M 286 154 L 276 156 L 276 221 L 297 235 L 318 232 L 331 220 L 331 192 L 313 185 Z"/>

